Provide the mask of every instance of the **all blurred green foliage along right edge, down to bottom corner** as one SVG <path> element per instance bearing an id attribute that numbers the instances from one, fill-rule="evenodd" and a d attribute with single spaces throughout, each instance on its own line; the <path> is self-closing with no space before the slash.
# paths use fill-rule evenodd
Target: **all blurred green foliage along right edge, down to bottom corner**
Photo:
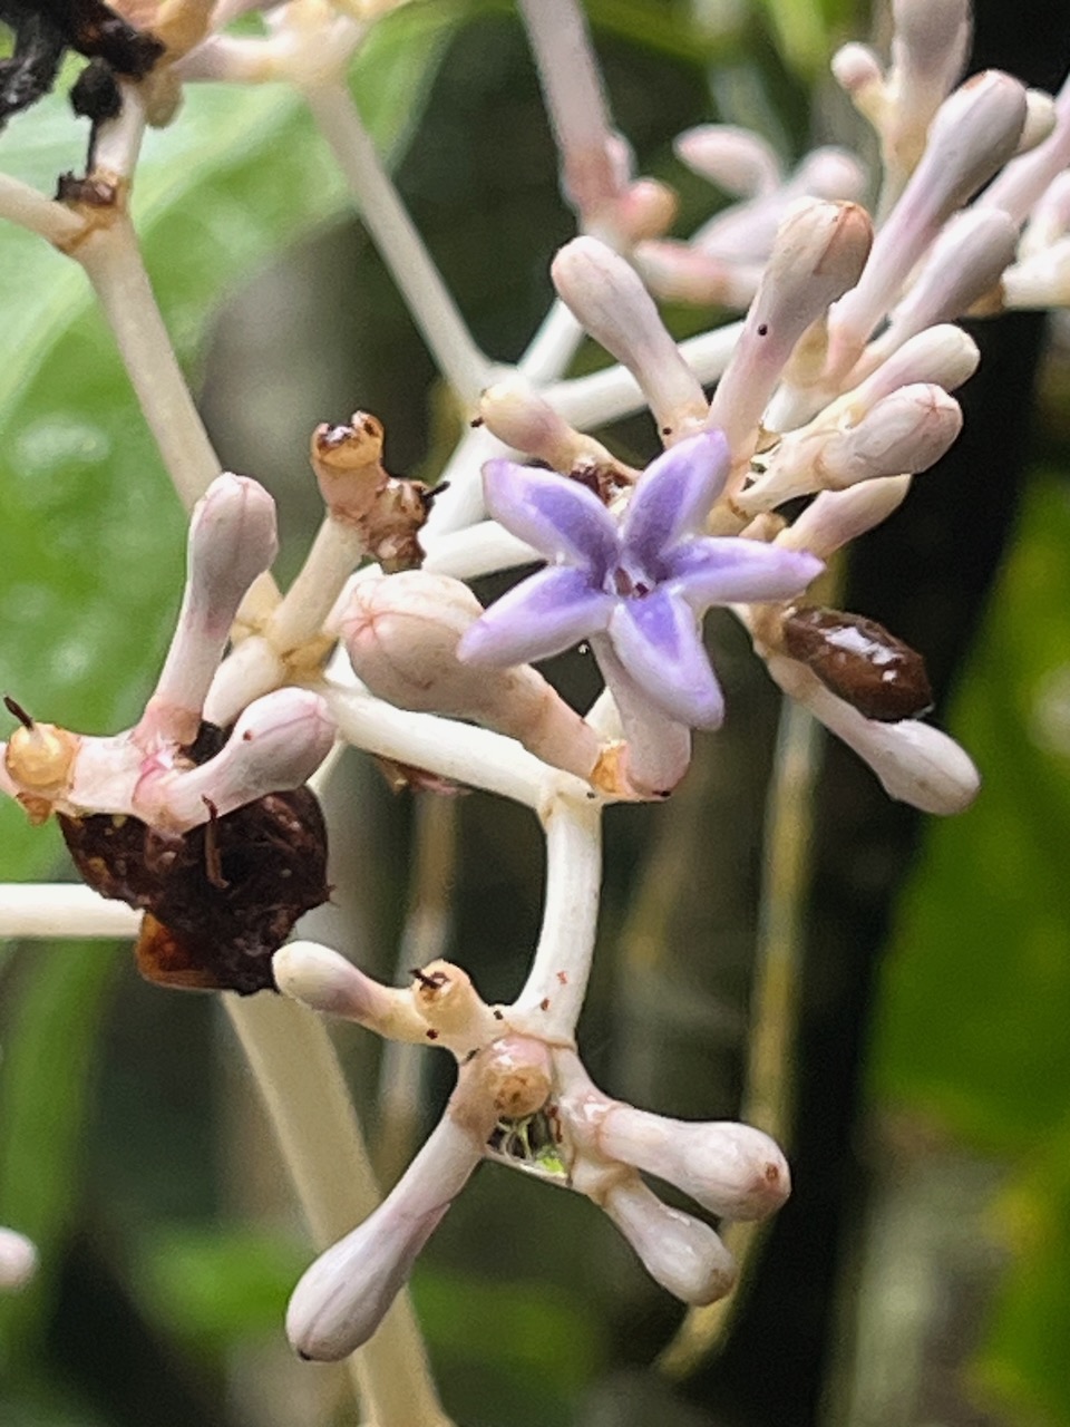
<path id="1" fill-rule="evenodd" d="M 977 1381 L 1070 1421 L 1070 491 L 1033 482 L 954 712 L 984 786 L 933 822 L 889 955 L 876 1095 L 1007 1166 Z"/>

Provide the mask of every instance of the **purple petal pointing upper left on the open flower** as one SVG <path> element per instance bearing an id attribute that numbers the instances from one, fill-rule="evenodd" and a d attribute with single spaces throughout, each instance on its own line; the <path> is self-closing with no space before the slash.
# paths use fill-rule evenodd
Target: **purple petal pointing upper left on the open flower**
<path id="1" fill-rule="evenodd" d="M 515 461 L 488 461 L 484 494 L 491 515 L 548 561 L 585 565 L 601 581 L 616 559 L 616 522 L 576 481 Z"/>

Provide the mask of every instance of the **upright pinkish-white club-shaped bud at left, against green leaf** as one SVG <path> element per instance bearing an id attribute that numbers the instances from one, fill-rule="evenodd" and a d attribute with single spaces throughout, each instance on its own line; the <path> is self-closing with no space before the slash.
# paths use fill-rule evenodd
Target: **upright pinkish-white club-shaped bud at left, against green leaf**
<path id="1" fill-rule="evenodd" d="M 171 648 L 134 732 L 191 743 L 241 599 L 278 551 L 275 502 L 245 475 L 217 477 L 194 507 L 185 589 Z"/>

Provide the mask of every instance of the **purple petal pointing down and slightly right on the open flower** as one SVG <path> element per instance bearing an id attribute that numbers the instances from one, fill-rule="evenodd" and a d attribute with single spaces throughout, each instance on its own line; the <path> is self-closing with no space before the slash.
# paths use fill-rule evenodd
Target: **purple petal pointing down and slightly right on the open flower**
<path id="1" fill-rule="evenodd" d="M 621 599 L 609 621 L 609 639 L 656 708 L 692 728 L 718 728 L 725 702 L 695 614 L 682 599 L 665 589 L 645 599 Z"/>

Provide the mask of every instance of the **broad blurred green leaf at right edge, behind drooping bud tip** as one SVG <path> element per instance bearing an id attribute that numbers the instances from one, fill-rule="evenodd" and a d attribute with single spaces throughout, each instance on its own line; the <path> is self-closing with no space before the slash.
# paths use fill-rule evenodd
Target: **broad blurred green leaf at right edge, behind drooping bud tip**
<path id="1" fill-rule="evenodd" d="M 1070 502 L 1033 491 L 953 731 L 984 785 L 933 822 L 885 975 L 873 1077 L 977 1147 L 1060 1123 L 1070 1082 Z"/>

